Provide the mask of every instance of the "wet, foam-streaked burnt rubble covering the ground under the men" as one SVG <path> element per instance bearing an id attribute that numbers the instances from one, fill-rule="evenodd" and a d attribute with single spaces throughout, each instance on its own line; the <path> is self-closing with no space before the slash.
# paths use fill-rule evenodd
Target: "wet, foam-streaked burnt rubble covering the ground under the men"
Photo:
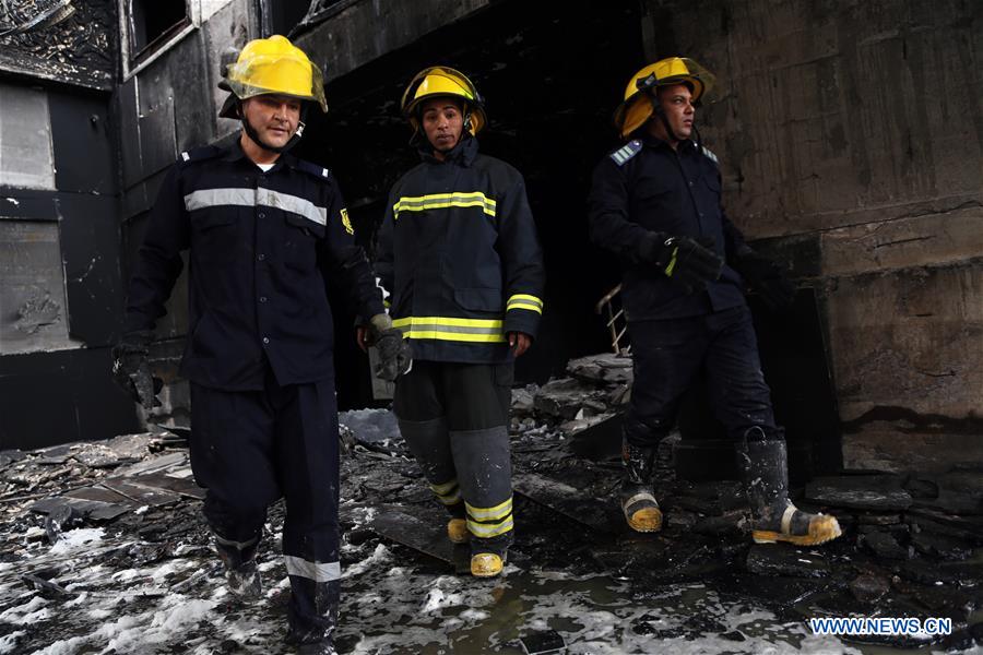
<path id="1" fill-rule="evenodd" d="M 630 361 L 602 355 L 568 372 L 513 391 L 517 541 L 492 582 L 466 575 L 466 546 L 446 539 L 392 415 L 341 415 L 341 653 L 520 653 L 547 628 L 569 653 L 647 652 L 652 640 L 843 652 L 804 627 L 821 616 L 948 617 L 954 633 L 936 647 L 983 645 L 983 469 L 816 478 L 796 503 L 837 515 L 843 537 L 751 545 L 741 486 L 676 479 L 674 436 L 654 481 L 665 526 L 636 534 L 616 500 Z M 209 548 L 187 437 L 0 452 L 0 653 L 285 652 L 282 505 L 260 551 L 268 593 L 237 605 Z"/>

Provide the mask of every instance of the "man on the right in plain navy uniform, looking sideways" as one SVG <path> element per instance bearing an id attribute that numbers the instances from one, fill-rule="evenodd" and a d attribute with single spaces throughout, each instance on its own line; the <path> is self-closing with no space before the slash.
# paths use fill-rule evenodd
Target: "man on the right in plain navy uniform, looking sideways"
<path id="1" fill-rule="evenodd" d="M 744 298 L 750 288 L 781 309 L 795 289 L 745 243 L 721 206 L 718 158 L 695 124 L 713 83 L 706 69 L 679 57 L 638 71 L 615 111 L 625 143 L 594 169 L 591 238 L 619 259 L 635 358 L 621 508 L 631 528 L 661 527 L 651 486 L 654 450 L 703 368 L 714 413 L 736 445 L 754 540 L 820 544 L 840 527 L 789 500 L 784 433 L 774 422 Z"/>

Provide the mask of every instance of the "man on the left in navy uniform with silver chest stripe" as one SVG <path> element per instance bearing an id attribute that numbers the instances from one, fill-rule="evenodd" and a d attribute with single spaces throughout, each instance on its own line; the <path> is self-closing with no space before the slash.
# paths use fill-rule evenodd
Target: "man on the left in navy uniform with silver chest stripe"
<path id="1" fill-rule="evenodd" d="M 181 153 L 151 211 L 130 281 L 114 372 L 151 408 L 147 347 L 189 254 L 181 374 L 191 384 L 191 466 L 229 591 L 261 594 L 267 509 L 286 499 L 287 642 L 333 653 L 339 567 L 337 410 L 325 278 L 363 315 L 389 373 L 408 349 L 355 246 L 337 183 L 287 151 L 306 111 L 327 111 L 318 68 L 286 38 L 249 41 L 220 84 L 220 116 L 241 121 L 229 147 Z M 157 403 L 159 404 L 159 403 Z"/>

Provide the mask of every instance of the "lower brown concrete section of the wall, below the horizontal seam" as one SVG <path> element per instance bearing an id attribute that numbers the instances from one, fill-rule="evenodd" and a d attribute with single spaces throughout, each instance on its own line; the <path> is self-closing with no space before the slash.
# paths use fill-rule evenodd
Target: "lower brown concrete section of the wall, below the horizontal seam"
<path id="1" fill-rule="evenodd" d="M 848 465 L 877 450 L 890 468 L 983 461 L 980 264 L 856 276 L 830 293 Z"/>

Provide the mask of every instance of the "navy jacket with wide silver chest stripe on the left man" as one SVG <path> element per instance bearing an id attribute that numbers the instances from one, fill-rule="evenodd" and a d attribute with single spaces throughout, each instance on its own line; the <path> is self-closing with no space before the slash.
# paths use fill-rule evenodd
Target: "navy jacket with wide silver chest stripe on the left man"
<path id="1" fill-rule="evenodd" d="M 164 315 L 189 251 L 189 325 L 181 374 L 225 391 L 334 376 L 325 278 L 363 315 L 383 311 L 337 184 L 283 154 L 263 172 L 239 147 L 182 153 L 168 171 L 130 282 L 127 331 Z"/>

